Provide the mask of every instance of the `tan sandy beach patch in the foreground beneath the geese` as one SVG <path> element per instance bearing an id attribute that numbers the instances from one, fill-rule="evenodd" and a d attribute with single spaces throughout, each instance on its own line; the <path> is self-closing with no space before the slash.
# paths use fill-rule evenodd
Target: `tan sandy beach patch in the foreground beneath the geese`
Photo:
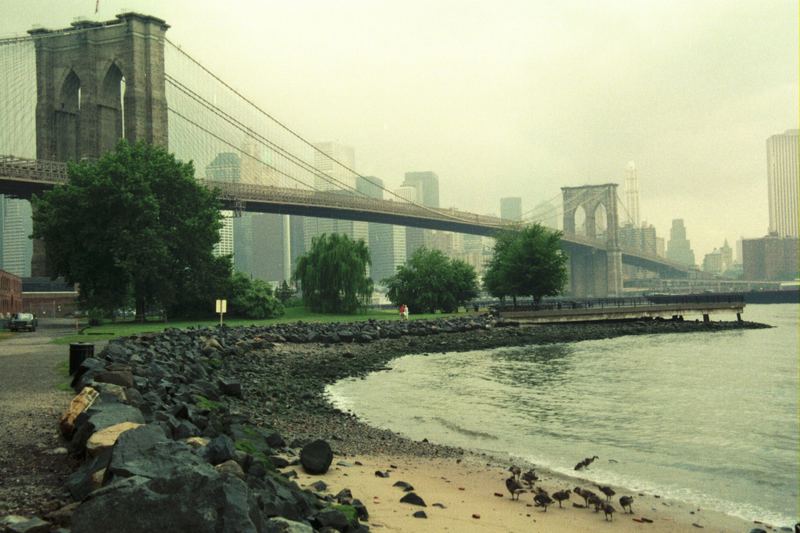
<path id="1" fill-rule="evenodd" d="M 437 459 L 411 456 L 364 455 L 334 458 L 331 469 L 324 475 L 311 476 L 296 469 L 297 482 L 308 486 L 322 480 L 328 485 L 327 492 L 336 495 L 342 489 L 350 489 L 354 498 L 360 499 L 369 510 L 367 523 L 376 531 L 453 531 L 453 532 L 595 532 L 595 531 L 750 531 L 754 527 L 744 520 L 721 513 L 690 508 L 682 502 L 668 501 L 655 495 L 639 495 L 617 489 L 613 505 L 617 509 L 613 519 L 607 521 L 603 513 L 577 508 L 573 503 L 583 504 L 583 499 L 574 494 L 558 505 L 548 507 L 547 512 L 534 507 L 533 495 L 522 494 L 520 501 L 512 501 L 505 488 L 509 476 L 507 466 L 496 462 L 487 463 L 485 458 L 465 456 L 463 459 Z M 376 471 L 388 472 L 389 477 L 379 477 Z M 541 485 L 551 493 L 556 490 L 574 488 L 576 484 L 594 488 L 577 479 L 538 471 Z M 405 495 L 394 483 L 404 481 L 414 487 L 414 492 L 426 503 L 419 507 L 401 503 Z M 599 492 L 595 489 L 595 492 Z M 633 514 L 625 514 L 617 501 L 619 495 L 633 495 Z M 438 506 L 436 504 L 441 504 Z M 415 512 L 423 510 L 427 518 L 415 518 Z M 692 514 L 693 513 L 693 514 Z M 648 518 L 651 523 L 634 519 Z"/>

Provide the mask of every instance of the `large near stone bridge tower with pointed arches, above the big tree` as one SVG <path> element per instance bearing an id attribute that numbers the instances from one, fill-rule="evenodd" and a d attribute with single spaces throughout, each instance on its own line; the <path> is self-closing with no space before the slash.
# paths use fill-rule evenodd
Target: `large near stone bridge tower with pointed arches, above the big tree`
<path id="1" fill-rule="evenodd" d="M 161 19 L 123 13 L 108 22 L 31 30 L 36 46 L 36 156 L 99 157 L 121 138 L 167 145 Z"/>

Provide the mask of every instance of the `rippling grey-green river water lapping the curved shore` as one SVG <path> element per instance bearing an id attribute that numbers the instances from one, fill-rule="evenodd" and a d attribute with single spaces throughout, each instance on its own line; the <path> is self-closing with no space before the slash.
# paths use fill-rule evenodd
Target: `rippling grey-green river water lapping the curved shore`
<path id="1" fill-rule="evenodd" d="M 411 439 L 511 454 L 567 475 L 597 455 L 580 477 L 791 525 L 799 311 L 747 306 L 743 318 L 772 329 L 401 357 L 328 395 Z"/>

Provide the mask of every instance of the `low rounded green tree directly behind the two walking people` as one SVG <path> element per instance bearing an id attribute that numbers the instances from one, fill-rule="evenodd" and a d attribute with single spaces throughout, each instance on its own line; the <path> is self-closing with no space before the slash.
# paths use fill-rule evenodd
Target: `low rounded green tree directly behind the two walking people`
<path id="1" fill-rule="evenodd" d="M 477 276 L 471 265 L 427 248 L 414 252 L 383 283 L 393 304 L 406 304 L 415 313 L 451 313 L 478 295 Z"/>

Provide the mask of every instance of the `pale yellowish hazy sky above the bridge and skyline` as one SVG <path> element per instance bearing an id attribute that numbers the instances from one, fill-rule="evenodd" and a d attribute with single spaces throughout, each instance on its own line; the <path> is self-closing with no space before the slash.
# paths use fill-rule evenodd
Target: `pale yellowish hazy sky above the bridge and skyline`
<path id="1" fill-rule="evenodd" d="M 767 137 L 798 127 L 797 0 L 0 0 L 0 36 L 134 10 L 276 118 L 387 186 L 523 210 L 624 183 L 697 261 L 768 225 Z M 0 73 L 2 75 L 2 73 Z M 621 194 L 622 196 L 622 194 Z M 623 196 L 624 197 L 624 196 Z M 560 201 L 560 200 L 559 200 Z"/>

